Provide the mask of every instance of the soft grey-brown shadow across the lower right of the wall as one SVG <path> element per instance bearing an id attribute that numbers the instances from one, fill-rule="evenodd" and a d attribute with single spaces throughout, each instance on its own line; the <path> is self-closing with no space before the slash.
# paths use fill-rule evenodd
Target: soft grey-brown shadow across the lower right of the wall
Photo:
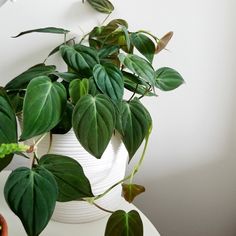
<path id="1" fill-rule="evenodd" d="M 235 166 L 232 155 L 166 177 L 145 179 L 142 184 L 147 192 L 135 203 L 162 236 L 235 236 Z"/>

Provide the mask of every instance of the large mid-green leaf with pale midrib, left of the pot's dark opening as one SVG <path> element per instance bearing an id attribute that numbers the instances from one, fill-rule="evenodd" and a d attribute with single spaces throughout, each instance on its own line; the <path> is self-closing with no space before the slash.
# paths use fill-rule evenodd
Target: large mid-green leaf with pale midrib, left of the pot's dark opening
<path id="1" fill-rule="evenodd" d="M 23 105 L 23 131 L 21 140 L 30 139 L 54 128 L 66 107 L 66 90 L 59 82 L 47 76 L 33 79 Z"/>

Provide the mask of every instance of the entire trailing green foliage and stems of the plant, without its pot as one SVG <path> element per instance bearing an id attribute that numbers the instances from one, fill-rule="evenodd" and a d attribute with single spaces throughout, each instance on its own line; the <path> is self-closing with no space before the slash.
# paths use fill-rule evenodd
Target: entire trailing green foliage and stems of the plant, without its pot
<path id="1" fill-rule="evenodd" d="M 108 0 L 87 1 L 103 13 L 114 9 Z M 0 89 L 0 170 L 15 153 L 31 163 L 30 168 L 20 167 L 10 174 L 4 188 L 9 207 L 29 236 L 39 235 L 46 227 L 56 201 L 73 200 L 112 213 L 106 236 L 121 236 L 124 230 L 127 235 L 143 235 L 137 211 L 110 211 L 97 200 L 120 184 L 128 202 L 145 190 L 133 182 L 152 128 L 151 116 L 141 101 L 146 96 L 155 98 L 158 89 L 173 90 L 184 82 L 176 70 L 152 66 L 154 56 L 166 47 L 173 33 L 158 39 L 144 30 L 131 32 L 125 20 L 114 19 L 96 26 L 79 41 L 67 38 L 69 30 L 55 27 L 24 31 L 16 37 L 33 32 L 64 35 L 64 42 L 48 57 L 58 53 L 67 70 L 59 71 L 46 59 Z M 16 117 L 22 119 L 20 138 Z M 144 148 L 129 175 L 96 195 L 79 160 L 61 153 L 38 154 L 38 145 L 46 135 L 50 146 L 53 134 L 68 132 L 94 160 L 103 159 L 114 133 L 120 136 L 129 162 L 143 142 Z M 27 140 L 29 144 L 21 143 Z"/>

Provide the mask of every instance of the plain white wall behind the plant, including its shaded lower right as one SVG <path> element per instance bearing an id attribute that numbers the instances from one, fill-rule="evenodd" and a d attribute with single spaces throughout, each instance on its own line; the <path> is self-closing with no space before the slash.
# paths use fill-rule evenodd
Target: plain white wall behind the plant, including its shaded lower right
<path id="1" fill-rule="evenodd" d="M 162 236 L 235 236 L 235 1 L 113 2 L 112 17 L 127 19 L 133 30 L 145 28 L 158 36 L 175 32 L 170 52 L 162 52 L 155 64 L 176 68 L 186 80 L 178 90 L 144 101 L 154 128 L 136 179 L 147 192 L 136 204 Z M 80 0 L 7 3 L 0 9 L 1 84 L 41 62 L 62 40 L 10 36 L 45 26 L 81 34 L 103 18 Z"/>

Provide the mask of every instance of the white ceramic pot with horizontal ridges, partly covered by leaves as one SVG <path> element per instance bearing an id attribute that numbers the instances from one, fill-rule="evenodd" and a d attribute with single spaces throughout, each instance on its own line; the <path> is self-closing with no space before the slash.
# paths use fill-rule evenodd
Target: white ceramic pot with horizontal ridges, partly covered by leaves
<path id="1" fill-rule="evenodd" d="M 90 155 L 80 145 L 72 130 L 64 135 L 53 135 L 51 148 L 49 151 L 48 149 L 49 137 L 46 136 L 38 146 L 38 154 L 52 153 L 74 158 L 83 167 L 95 196 L 124 178 L 128 152 L 117 135 L 112 136 L 101 159 Z M 96 203 L 105 209 L 116 210 L 120 201 L 121 186 L 119 185 Z M 58 202 L 52 219 L 64 223 L 85 223 L 98 220 L 107 214 L 87 202 Z"/>

